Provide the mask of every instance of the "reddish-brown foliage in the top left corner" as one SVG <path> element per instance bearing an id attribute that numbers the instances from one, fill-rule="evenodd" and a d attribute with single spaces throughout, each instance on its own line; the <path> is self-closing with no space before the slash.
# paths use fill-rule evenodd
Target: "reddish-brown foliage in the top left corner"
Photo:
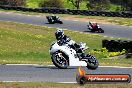
<path id="1" fill-rule="evenodd" d="M 26 0 L 0 0 L 0 5 L 25 6 Z"/>

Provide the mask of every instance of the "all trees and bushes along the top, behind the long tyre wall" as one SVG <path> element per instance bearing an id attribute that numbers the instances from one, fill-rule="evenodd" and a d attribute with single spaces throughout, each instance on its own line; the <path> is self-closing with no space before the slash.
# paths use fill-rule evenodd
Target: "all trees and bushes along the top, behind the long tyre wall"
<path id="1" fill-rule="evenodd" d="M 80 9 L 81 3 L 85 2 L 88 10 L 106 11 L 110 4 L 121 6 L 121 11 L 132 11 L 132 0 L 67 0 L 76 9 Z M 40 7 L 64 8 L 63 0 L 42 0 Z M 0 5 L 26 6 L 26 0 L 0 0 Z"/>

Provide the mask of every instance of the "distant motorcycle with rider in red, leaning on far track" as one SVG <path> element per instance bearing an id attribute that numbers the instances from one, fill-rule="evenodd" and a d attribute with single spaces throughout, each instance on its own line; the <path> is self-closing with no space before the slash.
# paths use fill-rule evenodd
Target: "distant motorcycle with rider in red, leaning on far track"
<path id="1" fill-rule="evenodd" d="M 100 28 L 100 26 L 97 23 L 94 23 L 91 25 L 89 24 L 87 26 L 91 32 L 104 33 L 104 30 L 102 28 Z"/>

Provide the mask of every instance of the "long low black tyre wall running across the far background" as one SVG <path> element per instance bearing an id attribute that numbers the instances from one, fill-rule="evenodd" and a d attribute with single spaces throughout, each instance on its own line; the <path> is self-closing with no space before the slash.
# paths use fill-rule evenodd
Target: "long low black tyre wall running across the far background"
<path id="1" fill-rule="evenodd" d="M 70 9 L 58 9 L 58 8 L 26 8 L 26 7 L 11 7 L 11 6 L 0 6 L 0 9 L 40 12 L 40 13 L 53 13 L 53 14 L 86 15 L 86 16 L 107 16 L 107 17 L 128 17 L 128 18 L 132 17 L 132 12 L 105 12 L 105 11 L 70 10 Z"/>

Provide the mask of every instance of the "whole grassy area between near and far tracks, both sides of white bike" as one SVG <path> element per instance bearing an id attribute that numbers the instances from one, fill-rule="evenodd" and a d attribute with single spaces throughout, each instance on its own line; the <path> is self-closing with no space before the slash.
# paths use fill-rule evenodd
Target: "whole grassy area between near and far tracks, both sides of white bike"
<path id="1" fill-rule="evenodd" d="M 1 64 L 51 64 L 49 47 L 55 40 L 55 28 L 0 21 Z M 102 40 L 110 39 L 98 34 L 65 30 L 65 34 L 77 42 L 85 42 L 93 49 L 101 49 Z M 82 40 L 83 38 L 83 40 Z M 100 65 L 132 66 L 132 59 L 103 59 L 104 53 L 95 54 Z"/>

